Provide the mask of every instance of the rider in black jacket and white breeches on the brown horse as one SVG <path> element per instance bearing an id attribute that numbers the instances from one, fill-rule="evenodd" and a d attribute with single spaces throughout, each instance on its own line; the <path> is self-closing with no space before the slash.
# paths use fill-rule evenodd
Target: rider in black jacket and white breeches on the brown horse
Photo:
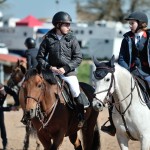
<path id="1" fill-rule="evenodd" d="M 40 66 L 59 74 L 70 85 L 79 109 L 78 127 L 80 128 L 84 123 L 84 104 L 75 69 L 82 61 L 82 53 L 76 37 L 70 31 L 71 22 L 72 19 L 66 12 L 58 12 L 54 15 L 52 19 L 54 28 L 44 36 L 37 60 Z"/>

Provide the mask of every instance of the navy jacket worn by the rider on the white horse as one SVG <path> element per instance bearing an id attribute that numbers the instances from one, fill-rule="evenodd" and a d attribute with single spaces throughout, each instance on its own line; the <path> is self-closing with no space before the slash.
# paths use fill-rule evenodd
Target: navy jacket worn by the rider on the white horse
<path id="1" fill-rule="evenodd" d="M 145 53 L 143 58 L 141 59 L 140 57 L 140 63 L 142 65 L 145 65 L 146 71 L 148 74 L 150 74 L 150 31 L 146 31 L 147 39 L 145 42 L 145 46 L 143 47 L 143 50 L 141 51 L 142 53 Z M 134 34 L 129 31 L 124 34 L 124 38 L 121 43 L 121 48 L 120 48 L 120 53 L 118 57 L 118 64 L 121 65 L 122 67 L 126 68 L 127 70 L 130 71 L 130 69 L 133 66 L 133 47 L 134 47 Z M 142 54 L 143 55 L 143 54 Z M 145 70 L 144 70 L 145 71 Z"/>

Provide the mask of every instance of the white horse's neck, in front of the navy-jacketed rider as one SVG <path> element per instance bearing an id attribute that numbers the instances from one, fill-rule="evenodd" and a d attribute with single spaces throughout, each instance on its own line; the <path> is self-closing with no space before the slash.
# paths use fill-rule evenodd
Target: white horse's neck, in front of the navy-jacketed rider
<path id="1" fill-rule="evenodd" d="M 122 107 L 127 107 L 130 102 L 136 103 L 138 92 L 136 83 L 132 75 L 125 69 L 117 68 L 115 73 L 115 92 L 114 97 Z"/>

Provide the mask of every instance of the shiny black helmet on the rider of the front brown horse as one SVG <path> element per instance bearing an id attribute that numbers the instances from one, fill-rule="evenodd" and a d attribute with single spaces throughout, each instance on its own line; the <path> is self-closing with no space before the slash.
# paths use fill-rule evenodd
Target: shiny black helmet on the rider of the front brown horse
<path id="1" fill-rule="evenodd" d="M 52 24 L 55 27 L 58 23 L 62 24 L 62 23 L 71 23 L 71 22 L 72 22 L 72 19 L 70 15 L 63 11 L 57 12 L 52 19 Z"/>

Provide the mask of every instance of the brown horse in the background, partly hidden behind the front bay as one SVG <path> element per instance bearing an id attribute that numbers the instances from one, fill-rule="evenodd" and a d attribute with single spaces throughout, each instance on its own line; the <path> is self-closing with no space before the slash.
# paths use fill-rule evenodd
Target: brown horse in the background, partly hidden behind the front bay
<path id="1" fill-rule="evenodd" d="M 13 88 L 13 90 L 15 90 L 18 94 L 19 94 L 21 84 L 24 80 L 26 71 L 27 71 L 26 61 L 18 59 L 16 64 L 12 67 L 12 72 L 11 72 L 10 78 L 7 81 L 7 86 L 9 88 Z M 37 144 L 36 150 L 39 150 L 40 149 L 40 141 L 37 137 L 36 131 L 33 129 L 33 127 L 31 126 L 30 123 L 25 126 L 25 129 L 26 129 L 26 134 L 25 134 L 25 138 L 24 138 L 23 150 L 28 150 L 30 136 L 35 137 L 36 144 Z"/>

